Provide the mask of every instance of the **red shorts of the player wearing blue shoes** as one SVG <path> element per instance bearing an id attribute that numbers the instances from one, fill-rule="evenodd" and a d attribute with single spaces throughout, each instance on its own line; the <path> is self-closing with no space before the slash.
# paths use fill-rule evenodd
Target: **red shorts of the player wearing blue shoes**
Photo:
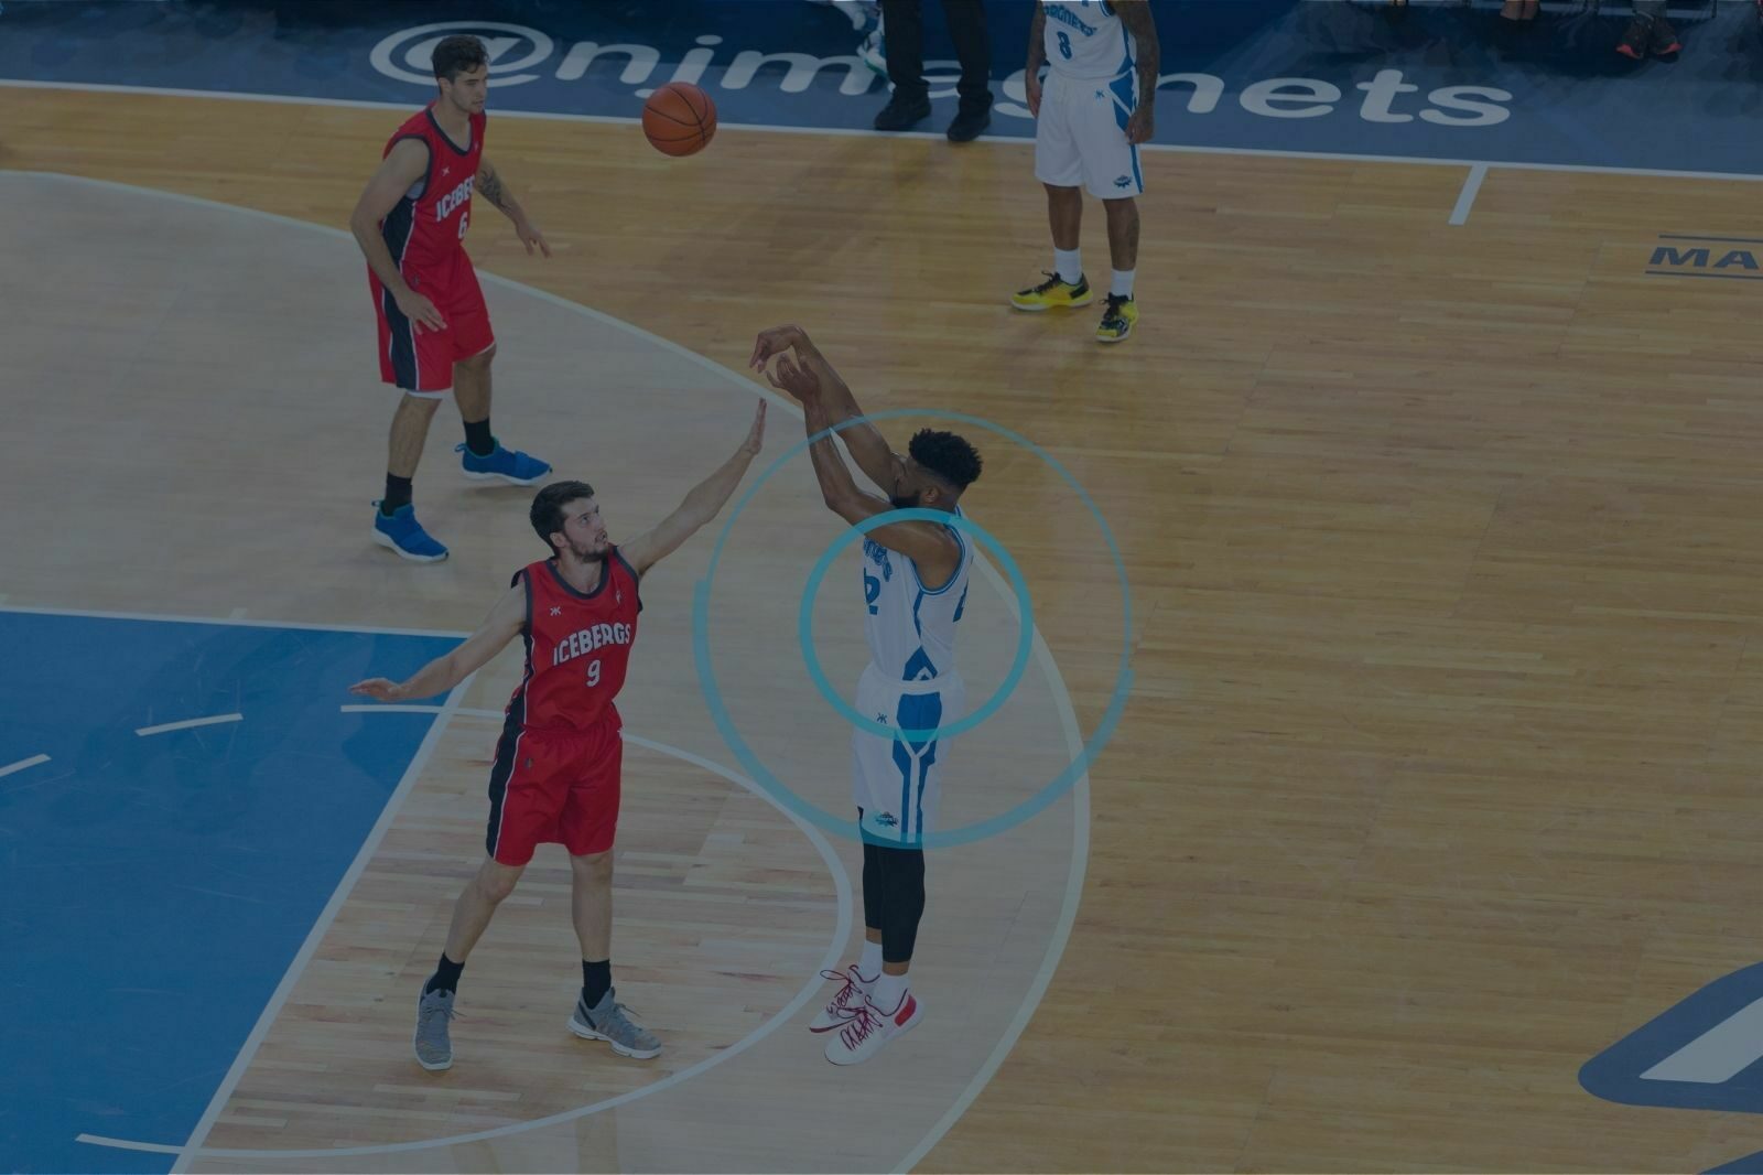
<path id="1" fill-rule="evenodd" d="M 413 323 L 398 309 L 379 277 L 367 273 L 379 318 L 379 378 L 418 395 L 439 395 L 453 386 L 453 363 L 481 355 L 495 346 L 490 309 L 471 258 L 460 249 L 450 261 L 411 266 L 404 272 L 411 289 L 435 303 L 444 328 Z"/>

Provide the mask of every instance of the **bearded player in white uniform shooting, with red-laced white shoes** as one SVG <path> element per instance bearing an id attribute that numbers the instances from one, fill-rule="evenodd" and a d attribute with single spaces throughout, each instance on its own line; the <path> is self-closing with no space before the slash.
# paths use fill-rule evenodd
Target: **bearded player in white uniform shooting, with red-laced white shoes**
<path id="1" fill-rule="evenodd" d="M 827 508 L 850 524 L 892 510 L 961 515 L 961 494 L 980 475 L 980 455 L 954 432 L 922 429 L 906 455 L 859 420 L 850 386 L 800 326 L 760 333 L 751 365 L 802 404 L 815 478 Z M 857 422 L 857 423 L 850 423 Z M 857 485 L 829 429 L 883 494 Z M 852 792 L 864 842 L 864 951 L 843 972 L 825 972 L 839 990 L 809 1023 L 834 1032 L 827 1060 L 869 1060 L 924 1018 L 906 972 L 924 917 L 924 833 L 936 820 L 947 739 L 908 736 L 956 722 L 966 699 L 956 672 L 956 625 L 968 602 L 973 552 L 954 526 L 903 520 L 864 536 L 862 593 L 869 665 L 857 685 L 857 711 L 892 737 L 852 732 Z"/>

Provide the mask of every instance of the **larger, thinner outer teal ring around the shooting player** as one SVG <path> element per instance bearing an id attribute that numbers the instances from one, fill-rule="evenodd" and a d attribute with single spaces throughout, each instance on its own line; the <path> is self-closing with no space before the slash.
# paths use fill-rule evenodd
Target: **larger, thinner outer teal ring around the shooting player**
<path id="1" fill-rule="evenodd" d="M 721 563 L 723 547 L 728 543 L 728 536 L 730 533 L 733 533 L 735 522 L 740 519 L 740 512 L 746 510 L 748 503 L 753 501 L 753 496 L 760 490 L 760 487 L 765 485 L 765 482 L 772 478 L 772 475 L 783 469 L 783 466 L 788 464 L 792 457 L 797 457 L 799 453 L 806 452 L 807 446 L 813 445 L 815 441 L 830 438 L 834 432 L 839 432 L 843 429 L 850 429 L 862 423 L 874 423 L 878 420 L 894 420 L 899 416 L 959 420 L 961 423 L 970 423 L 986 429 L 989 432 L 996 432 L 998 436 L 1017 445 L 1019 448 L 1026 448 L 1028 452 L 1031 452 L 1035 457 L 1042 460 L 1042 464 L 1058 473 L 1060 478 L 1063 478 L 1065 483 L 1072 487 L 1072 492 L 1077 494 L 1077 499 L 1082 501 L 1084 506 L 1090 510 L 1090 513 L 1095 515 L 1097 526 L 1102 528 L 1102 538 L 1107 543 L 1109 556 L 1114 559 L 1114 573 L 1120 577 L 1120 598 L 1121 598 L 1120 672 L 1114 676 L 1114 692 L 1109 695 L 1107 706 L 1102 711 L 1100 722 L 1097 722 L 1095 732 L 1082 745 L 1077 757 L 1072 759 L 1072 762 L 1065 767 L 1065 771 L 1056 775 L 1040 790 L 1037 790 L 1033 796 L 1021 801 L 1014 808 L 1000 812 L 998 815 L 989 817 L 986 820 L 963 824 L 961 827 L 924 833 L 922 836 L 911 842 L 915 847 L 920 849 L 948 849 L 954 845 L 966 845 L 977 840 L 986 840 L 987 836 L 996 836 L 998 833 L 1005 833 L 1015 827 L 1017 824 L 1035 817 L 1047 805 L 1063 796 L 1090 769 L 1090 764 L 1095 762 L 1097 755 L 1100 755 L 1102 748 L 1107 746 L 1109 739 L 1114 737 L 1114 729 L 1120 725 L 1120 716 L 1127 709 L 1127 697 L 1132 693 L 1132 588 L 1127 582 L 1127 561 L 1121 558 L 1120 543 L 1114 542 L 1114 531 L 1109 528 L 1107 519 L 1102 517 L 1102 510 L 1097 508 L 1095 499 L 1082 487 L 1082 483 L 1079 483 L 1077 478 L 1074 478 L 1070 471 L 1065 466 L 1061 466 L 1058 459 L 1054 459 L 1049 452 L 1045 452 L 1023 434 L 1014 432 L 1000 423 L 993 423 L 991 420 L 986 420 L 982 416 L 970 416 L 966 413 L 950 413 L 950 411 L 926 411 L 915 408 L 894 408 L 882 413 L 853 416 L 850 420 L 832 425 L 830 429 L 823 429 L 815 436 L 804 438 L 802 441 L 793 445 L 788 452 L 785 452 L 777 460 L 774 460 L 770 466 L 765 468 L 765 471 L 758 476 L 758 480 L 740 496 L 740 501 L 735 503 L 733 512 L 730 512 L 728 515 L 728 522 L 723 524 L 721 533 L 716 536 L 716 545 L 710 549 L 710 566 L 705 570 L 703 579 L 698 580 L 698 589 L 693 598 L 691 644 L 693 644 L 693 656 L 698 663 L 698 686 L 703 693 L 703 702 L 710 711 L 710 720 L 716 722 L 716 730 L 718 734 L 723 736 L 723 743 L 726 743 L 728 750 L 735 753 L 735 757 L 740 760 L 740 766 L 746 767 L 748 776 L 755 783 L 763 787 L 777 803 L 785 805 L 790 812 L 795 812 L 804 820 L 809 820 L 829 833 L 834 833 L 837 836 L 850 836 L 852 840 L 866 840 L 866 842 L 873 840 L 874 843 L 899 843 L 899 842 L 876 840 L 867 833 L 857 829 L 855 813 L 834 815 L 825 808 L 790 790 L 790 787 L 786 787 L 770 771 L 770 767 L 767 767 L 765 762 L 753 753 L 753 748 L 748 746 L 746 739 L 740 737 L 740 732 L 735 729 L 735 723 L 728 715 L 728 704 L 723 699 L 723 692 L 716 685 L 716 669 L 710 663 L 710 588 L 716 582 L 716 568 Z M 1023 625 L 1023 632 L 1033 635 L 1030 625 L 1026 623 Z M 1044 642 L 1042 649 L 1045 649 Z"/>

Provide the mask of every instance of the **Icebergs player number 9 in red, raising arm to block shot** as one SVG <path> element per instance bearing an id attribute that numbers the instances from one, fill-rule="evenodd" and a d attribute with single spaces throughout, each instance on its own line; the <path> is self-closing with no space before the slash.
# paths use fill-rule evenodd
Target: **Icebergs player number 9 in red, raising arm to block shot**
<path id="1" fill-rule="evenodd" d="M 765 438 L 765 402 L 740 448 L 652 531 L 624 545 L 606 540 L 594 490 L 555 482 L 532 499 L 532 529 L 552 558 L 515 572 L 490 616 L 462 646 L 409 681 L 370 677 L 351 693 L 381 702 L 450 692 L 517 635 L 525 670 L 490 769 L 488 859 L 458 896 L 446 951 L 416 1006 L 416 1060 L 453 1064 L 448 1020 L 460 969 L 497 903 L 515 889 L 539 843 L 562 843 L 573 872 L 575 933 L 582 942 L 582 997 L 569 1029 L 608 1041 L 624 1057 L 654 1057 L 661 1041 L 633 1023 L 612 992 L 612 838 L 619 820 L 621 725 L 614 699 L 636 639 L 638 580 L 716 517 Z"/>

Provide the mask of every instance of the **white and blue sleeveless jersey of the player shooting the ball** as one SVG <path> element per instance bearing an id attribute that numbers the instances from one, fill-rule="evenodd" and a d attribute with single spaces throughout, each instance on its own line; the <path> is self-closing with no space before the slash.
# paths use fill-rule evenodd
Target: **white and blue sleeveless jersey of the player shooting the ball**
<path id="1" fill-rule="evenodd" d="M 961 510 L 956 508 L 959 515 Z M 919 580 L 919 568 L 897 550 L 864 536 L 864 632 L 869 660 L 894 681 L 933 681 L 956 667 L 956 621 L 968 602 L 973 550 L 966 535 L 948 528 L 961 545 L 961 563 L 936 591 Z"/>

